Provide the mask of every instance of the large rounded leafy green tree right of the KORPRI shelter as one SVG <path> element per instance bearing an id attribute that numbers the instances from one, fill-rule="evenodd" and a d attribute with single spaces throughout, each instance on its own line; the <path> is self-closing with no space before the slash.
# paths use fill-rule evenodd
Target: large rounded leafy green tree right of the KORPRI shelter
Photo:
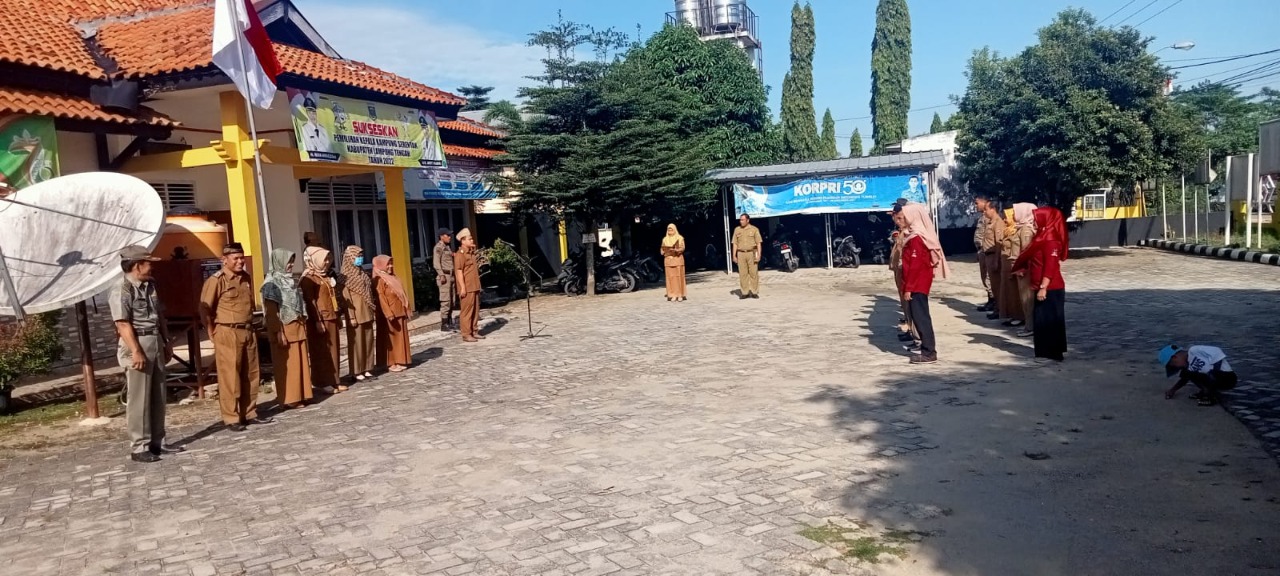
<path id="1" fill-rule="evenodd" d="M 1066 209 L 1098 187 L 1128 191 L 1192 166 L 1204 146 L 1161 93 L 1167 70 L 1147 44 L 1065 10 L 1018 56 L 974 52 L 959 100 L 960 177 L 975 192 Z"/>

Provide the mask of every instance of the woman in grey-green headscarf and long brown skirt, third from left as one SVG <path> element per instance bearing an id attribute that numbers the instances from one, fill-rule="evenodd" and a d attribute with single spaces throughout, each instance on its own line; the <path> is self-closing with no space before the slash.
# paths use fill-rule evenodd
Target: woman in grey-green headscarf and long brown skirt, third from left
<path id="1" fill-rule="evenodd" d="M 307 307 L 293 278 L 294 253 L 271 251 L 271 269 L 262 282 L 262 310 L 271 342 L 275 402 L 297 408 L 311 399 L 311 360 L 307 357 Z"/>

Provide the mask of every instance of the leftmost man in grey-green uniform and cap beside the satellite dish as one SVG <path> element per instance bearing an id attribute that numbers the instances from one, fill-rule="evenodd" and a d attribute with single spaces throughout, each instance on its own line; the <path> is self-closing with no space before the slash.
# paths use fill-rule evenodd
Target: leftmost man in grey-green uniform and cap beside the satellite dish
<path id="1" fill-rule="evenodd" d="M 109 298 L 115 333 L 120 337 L 115 357 L 124 369 L 124 408 L 129 429 L 129 458 L 155 462 L 160 454 L 182 452 L 164 445 L 165 364 L 173 356 L 164 306 L 151 276 L 152 257 L 147 248 L 128 246 L 120 251 L 124 278 L 111 288 Z"/>

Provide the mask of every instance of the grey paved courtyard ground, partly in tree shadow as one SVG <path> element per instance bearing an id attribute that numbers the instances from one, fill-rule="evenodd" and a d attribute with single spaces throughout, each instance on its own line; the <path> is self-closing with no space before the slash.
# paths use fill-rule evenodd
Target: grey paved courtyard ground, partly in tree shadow
<path id="1" fill-rule="evenodd" d="M 925 367 L 881 266 L 764 273 L 759 301 L 722 274 L 685 303 L 538 298 L 547 338 L 513 306 L 276 425 L 177 430 L 189 451 L 156 465 L 123 439 L 0 462 L 0 572 L 1277 573 L 1280 467 L 1222 410 L 1165 401 L 1155 351 L 1221 344 L 1267 438 L 1280 269 L 1075 256 L 1062 365 L 973 311 L 965 262 Z M 828 522 L 909 535 L 904 557 L 799 534 Z"/>

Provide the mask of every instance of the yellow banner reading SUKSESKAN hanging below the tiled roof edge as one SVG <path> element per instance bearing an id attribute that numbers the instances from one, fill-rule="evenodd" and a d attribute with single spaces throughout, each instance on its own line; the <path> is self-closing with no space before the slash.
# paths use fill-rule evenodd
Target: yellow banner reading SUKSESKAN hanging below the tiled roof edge
<path id="1" fill-rule="evenodd" d="M 298 154 L 305 161 L 443 168 L 444 147 L 430 110 L 287 88 Z"/>

